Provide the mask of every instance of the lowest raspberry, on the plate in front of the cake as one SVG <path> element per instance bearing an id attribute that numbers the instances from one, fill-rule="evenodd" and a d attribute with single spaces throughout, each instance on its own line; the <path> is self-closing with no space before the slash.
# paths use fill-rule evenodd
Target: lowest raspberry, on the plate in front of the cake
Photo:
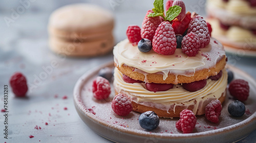
<path id="1" fill-rule="evenodd" d="M 180 120 L 176 122 L 176 128 L 183 133 L 191 133 L 197 123 L 197 117 L 188 109 L 180 112 Z"/>

